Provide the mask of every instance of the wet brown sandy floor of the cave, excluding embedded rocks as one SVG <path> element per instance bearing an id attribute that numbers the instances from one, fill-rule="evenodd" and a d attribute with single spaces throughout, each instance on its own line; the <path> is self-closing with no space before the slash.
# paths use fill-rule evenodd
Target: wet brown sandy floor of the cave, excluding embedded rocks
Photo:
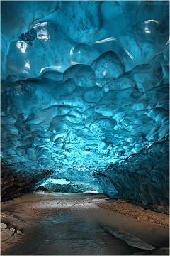
<path id="1" fill-rule="evenodd" d="M 106 233 L 105 226 L 135 235 L 156 250 L 169 247 L 169 215 L 103 195 L 27 194 L 1 203 L 1 223 L 12 233 L 1 242 L 1 255 L 146 255 Z"/>

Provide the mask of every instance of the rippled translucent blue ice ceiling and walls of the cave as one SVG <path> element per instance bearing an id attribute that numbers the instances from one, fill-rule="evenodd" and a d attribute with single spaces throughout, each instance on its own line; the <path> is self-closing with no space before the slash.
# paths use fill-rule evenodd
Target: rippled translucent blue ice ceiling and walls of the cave
<path id="1" fill-rule="evenodd" d="M 169 1 L 1 1 L 1 196 L 169 202 Z"/>

